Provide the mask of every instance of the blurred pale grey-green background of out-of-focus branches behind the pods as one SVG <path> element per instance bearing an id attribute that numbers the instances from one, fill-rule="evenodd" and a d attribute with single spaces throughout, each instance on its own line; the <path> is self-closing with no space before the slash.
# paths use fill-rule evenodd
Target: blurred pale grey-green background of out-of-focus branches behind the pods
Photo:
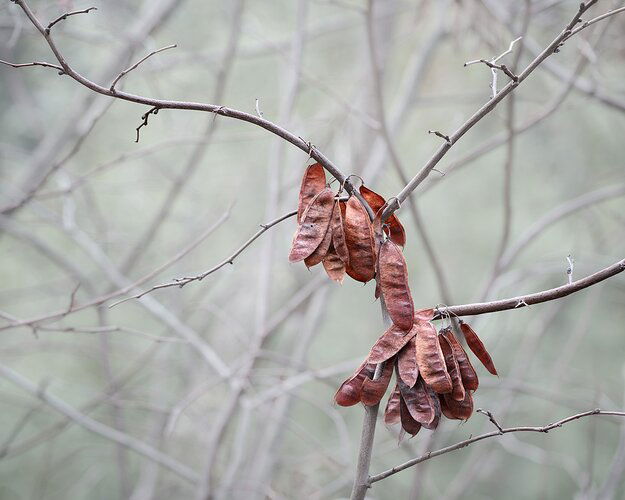
<path id="1" fill-rule="evenodd" d="M 623 2 L 601 1 L 592 15 Z M 29 2 L 68 62 L 108 86 L 227 105 L 399 192 L 573 17 L 574 0 Z M 418 307 L 505 298 L 623 258 L 625 15 L 542 64 L 397 212 Z M 0 6 L 0 59 L 53 55 Z M 508 82 L 498 75 L 498 86 Z M 348 497 L 364 411 L 332 397 L 384 326 L 374 284 L 287 260 L 307 155 L 266 130 L 97 95 L 0 66 L 0 498 Z M 393 159 L 389 148 L 397 152 Z M 329 176 L 328 176 L 329 177 Z M 336 184 L 335 184 L 336 185 Z M 504 426 L 622 410 L 625 278 L 471 319 L 500 377 L 476 407 Z M 385 400 L 384 400 L 385 402 Z M 384 404 L 384 403 L 383 403 Z M 623 498 L 625 421 L 510 434 L 376 483 L 372 499 Z M 493 430 L 479 413 L 398 444 L 371 472 Z"/>

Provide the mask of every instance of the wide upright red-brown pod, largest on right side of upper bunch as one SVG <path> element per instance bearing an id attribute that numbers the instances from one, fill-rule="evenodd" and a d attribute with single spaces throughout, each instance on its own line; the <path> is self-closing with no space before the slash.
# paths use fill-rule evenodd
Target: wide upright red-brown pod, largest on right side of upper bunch
<path id="1" fill-rule="evenodd" d="M 355 196 L 347 201 L 344 228 L 349 252 L 347 274 L 366 283 L 375 276 L 375 245 L 369 214 Z"/>

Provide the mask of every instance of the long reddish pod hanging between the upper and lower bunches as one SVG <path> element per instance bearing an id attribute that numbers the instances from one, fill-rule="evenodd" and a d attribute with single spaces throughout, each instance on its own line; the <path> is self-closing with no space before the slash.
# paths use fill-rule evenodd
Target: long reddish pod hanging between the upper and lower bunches
<path id="1" fill-rule="evenodd" d="M 389 316 L 398 328 L 408 331 L 414 322 L 414 303 L 404 255 L 395 243 L 387 240 L 380 247 L 378 262 L 380 289 Z"/>

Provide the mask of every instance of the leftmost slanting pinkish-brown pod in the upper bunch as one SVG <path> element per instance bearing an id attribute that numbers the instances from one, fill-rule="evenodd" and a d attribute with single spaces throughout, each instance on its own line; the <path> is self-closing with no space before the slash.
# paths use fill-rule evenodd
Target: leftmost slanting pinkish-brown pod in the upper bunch
<path id="1" fill-rule="evenodd" d="M 317 249 L 326 235 L 333 206 L 334 194 L 330 188 L 325 188 L 313 198 L 293 237 L 289 261 L 304 260 Z"/>

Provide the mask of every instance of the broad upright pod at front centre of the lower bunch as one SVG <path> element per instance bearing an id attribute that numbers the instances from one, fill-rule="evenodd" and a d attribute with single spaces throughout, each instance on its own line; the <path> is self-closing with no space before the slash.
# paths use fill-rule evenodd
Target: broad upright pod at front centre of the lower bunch
<path id="1" fill-rule="evenodd" d="M 439 394 L 451 392 L 453 386 L 447 373 L 443 351 L 438 343 L 438 333 L 429 321 L 416 321 L 417 364 L 419 373 Z"/>

